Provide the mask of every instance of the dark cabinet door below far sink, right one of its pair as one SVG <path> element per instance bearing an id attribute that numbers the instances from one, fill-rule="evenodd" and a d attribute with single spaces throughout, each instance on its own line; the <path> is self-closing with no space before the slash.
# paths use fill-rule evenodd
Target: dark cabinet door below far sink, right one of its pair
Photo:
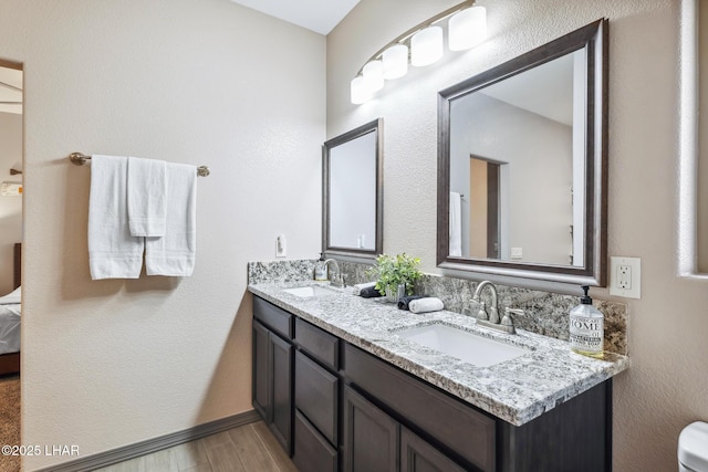
<path id="1" fill-rule="evenodd" d="M 288 455 L 292 451 L 292 358 L 290 343 L 270 333 L 272 415 L 270 429 Z"/>

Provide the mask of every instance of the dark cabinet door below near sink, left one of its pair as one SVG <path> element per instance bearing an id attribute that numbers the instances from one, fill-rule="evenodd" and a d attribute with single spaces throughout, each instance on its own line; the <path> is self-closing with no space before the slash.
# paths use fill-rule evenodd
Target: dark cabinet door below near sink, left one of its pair
<path id="1" fill-rule="evenodd" d="M 344 388 L 344 470 L 398 470 L 398 422 L 354 391 Z"/>

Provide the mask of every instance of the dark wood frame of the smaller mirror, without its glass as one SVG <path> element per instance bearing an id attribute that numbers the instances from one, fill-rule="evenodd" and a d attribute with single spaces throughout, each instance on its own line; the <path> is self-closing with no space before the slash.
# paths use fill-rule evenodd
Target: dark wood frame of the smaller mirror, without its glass
<path id="1" fill-rule="evenodd" d="M 384 120 L 383 118 L 374 119 L 366 123 L 351 132 L 336 136 L 324 143 L 322 147 L 322 251 L 327 255 L 348 255 L 357 258 L 374 259 L 384 251 L 384 153 L 383 153 L 383 132 Z M 330 204 L 330 187 L 332 185 L 330 170 L 330 154 L 331 150 L 345 143 L 354 140 L 358 137 L 367 135 L 369 133 L 376 133 L 376 216 L 375 216 L 375 235 L 374 235 L 374 249 L 358 249 L 358 248 L 343 248 L 334 247 L 331 243 L 330 234 L 330 211 L 332 209 Z"/>

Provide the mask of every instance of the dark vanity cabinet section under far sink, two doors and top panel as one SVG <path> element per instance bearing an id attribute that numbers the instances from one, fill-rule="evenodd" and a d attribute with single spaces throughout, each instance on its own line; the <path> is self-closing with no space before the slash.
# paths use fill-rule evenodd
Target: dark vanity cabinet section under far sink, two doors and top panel
<path id="1" fill-rule="evenodd" d="M 292 315 L 253 297 L 252 401 L 285 452 L 292 452 Z"/>

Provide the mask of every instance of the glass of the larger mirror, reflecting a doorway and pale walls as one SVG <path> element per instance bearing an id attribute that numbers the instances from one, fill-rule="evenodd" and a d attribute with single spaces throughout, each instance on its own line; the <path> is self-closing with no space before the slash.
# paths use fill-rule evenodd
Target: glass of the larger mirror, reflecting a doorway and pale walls
<path id="1" fill-rule="evenodd" d="M 585 54 L 451 102 L 450 255 L 584 264 Z"/>

